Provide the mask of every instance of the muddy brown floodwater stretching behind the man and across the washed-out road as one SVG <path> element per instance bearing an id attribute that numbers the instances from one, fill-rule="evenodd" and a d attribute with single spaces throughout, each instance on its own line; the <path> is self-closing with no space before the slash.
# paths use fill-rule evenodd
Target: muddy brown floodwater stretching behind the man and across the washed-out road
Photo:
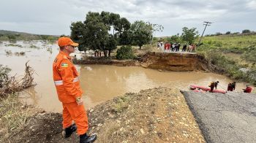
<path id="1" fill-rule="evenodd" d="M 25 52 L 25 55 L 19 55 L 20 52 Z M 20 100 L 46 111 L 61 112 L 61 103 L 52 77 L 52 63 L 58 53 L 58 45 L 40 41 L 0 43 L 0 64 L 10 67 L 12 75 L 22 75 L 26 61 L 29 61 L 29 65 L 37 73 L 34 74 L 37 85 L 20 93 Z M 165 86 L 189 90 L 189 85 L 208 86 L 209 82 L 219 80 L 219 89 L 226 90 L 227 83 L 232 82 L 220 74 L 200 71 L 158 71 L 135 66 L 105 65 L 76 67 L 80 73 L 80 85 L 84 91 L 83 99 L 87 109 L 115 96 L 147 88 Z M 241 91 L 244 87 L 244 83 L 238 82 L 236 91 Z"/>

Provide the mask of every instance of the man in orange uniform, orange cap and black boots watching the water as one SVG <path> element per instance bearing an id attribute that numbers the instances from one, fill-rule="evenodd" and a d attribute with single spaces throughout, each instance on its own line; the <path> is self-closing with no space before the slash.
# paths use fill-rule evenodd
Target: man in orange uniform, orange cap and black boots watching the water
<path id="1" fill-rule="evenodd" d="M 86 132 L 89 129 L 86 109 L 83 107 L 80 81 L 78 71 L 75 69 L 70 53 L 75 52 L 75 43 L 69 37 L 61 37 L 58 40 L 59 54 L 53 62 L 53 80 L 56 86 L 59 101 L 63 107 L 63 129 L 64 137 L 68 138 L 75 131 L 80 136 L 80 143 L 94 142 L 96 135 L 89 136 Z M 72 121 L 75 124 L 72 124 Z"/>

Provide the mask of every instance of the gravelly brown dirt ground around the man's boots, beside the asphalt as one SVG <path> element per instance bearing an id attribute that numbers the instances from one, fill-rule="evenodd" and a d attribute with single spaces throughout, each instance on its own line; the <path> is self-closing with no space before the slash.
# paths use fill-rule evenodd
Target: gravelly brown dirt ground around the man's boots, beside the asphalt
<path id="1" fill-rule="evenodd" d="M 153 88 L 127 93 L 88 110 L 97 142 L 205 142 L 178 90 Z M 40 113 L 10 142 L 78 142 L 61 138 L 61 115 Z M 8 139 L 7 139 L 8 140 Z M 5 141 L 7 141 L 5 140 Z"/>

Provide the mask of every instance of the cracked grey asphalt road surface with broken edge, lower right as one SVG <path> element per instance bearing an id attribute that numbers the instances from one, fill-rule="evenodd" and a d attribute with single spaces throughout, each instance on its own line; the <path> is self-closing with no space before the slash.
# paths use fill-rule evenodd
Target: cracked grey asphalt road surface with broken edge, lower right
<path id="1" fill-rule="evenodd" d="M 256 142 L 256 94 L 181 93 L 206 142 Z"/>

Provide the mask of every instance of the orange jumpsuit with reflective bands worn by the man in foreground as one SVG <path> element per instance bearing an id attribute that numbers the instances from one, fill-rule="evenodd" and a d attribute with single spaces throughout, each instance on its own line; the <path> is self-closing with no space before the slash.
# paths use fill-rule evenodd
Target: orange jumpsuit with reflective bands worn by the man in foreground
<path id="1" fill-rule="evenodd" d="M 76 103 L 76 98 L 81 97 L 83 93 L 78 71 L 69 55 L 61 50 L 53 62 L 53 80 L 63 106 L 63 128 L 72 125 L 74 120 L 78 127 L 78 135 L 85 134 L 89 128 L 86 110 L 83 105 Z"/>

